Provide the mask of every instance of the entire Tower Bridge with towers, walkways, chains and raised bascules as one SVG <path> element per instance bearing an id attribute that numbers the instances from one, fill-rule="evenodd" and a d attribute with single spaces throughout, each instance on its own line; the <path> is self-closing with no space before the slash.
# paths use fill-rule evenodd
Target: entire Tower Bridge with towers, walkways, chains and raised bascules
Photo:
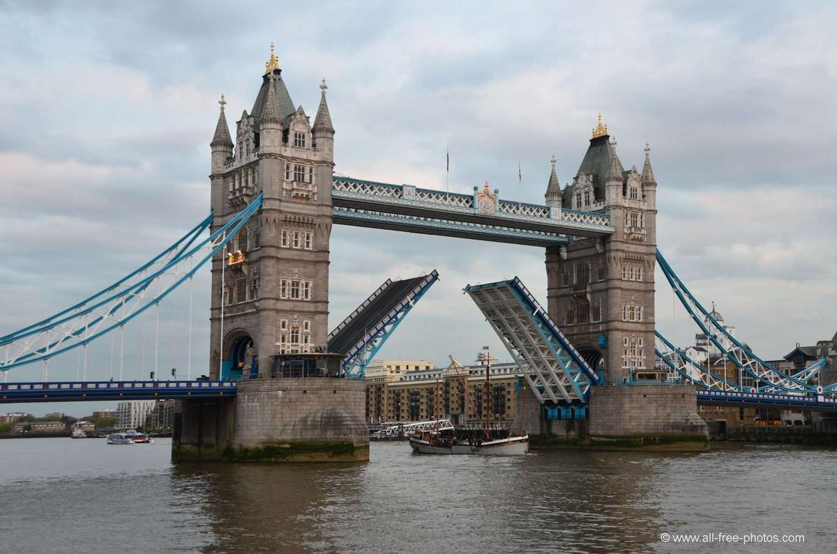
<path id="1" fill-rule="evenodd" d="M 311 124 L 290 99 L 271 45 L 234 136 L 223 95 L 219 102 L 210 215 L 122 280 L 0 337 L 4 376 L 44 364 L 43 382 L 4 382 L 0 403 L 178 398 L 177 459 L 367 459 L 365 368 L 439 274 L 385 280 L 329 332 L 330 240 L 342 224 L 544 249 L 545 308 L 517 278 L 465 287 L 523 375 L 516 393 L 530 408 L 518 423 L 532 432 L 583 413 L 588 420 L 567 420 L 565 430 L 605 442 L 705 443 L 697 403 L 834 409 L 837 385 L 811 384 L 824 361 L 793 375 L 770 366 L 677 277 L 657 250 L 650 148 L 641 171 L 625 169 L 601 115 L 572 184 L 561 187 L 553 157 L 538 205 L 504 200 L 488 183 L 462 194 L 336 175 L 326 90 L 323 80 Z M 88 346 L 110 334 L 112 349 L 136 316 L 156 310 L 159 318 L 160 303 L 191 286 L 204 263 L 212 274 L 209 380 L 87 381 Z M 716 375 L 655 330 L 658 265 L 701 331 L 756 386 Z M 83 354 L 84 378 L 50 382 L 49 360 L 69 351 L 77 367 Z M 588 409 L 557 409 L 567 406 Z"/>

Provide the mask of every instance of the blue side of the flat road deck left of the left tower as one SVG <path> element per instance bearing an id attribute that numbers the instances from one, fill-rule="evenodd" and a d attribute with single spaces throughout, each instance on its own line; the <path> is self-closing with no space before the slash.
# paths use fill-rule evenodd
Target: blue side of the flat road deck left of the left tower
<path id="1" fill-rule="evenodd" d="M 234 398 L 231 381 L 4 382 L 0 403 Z"/>

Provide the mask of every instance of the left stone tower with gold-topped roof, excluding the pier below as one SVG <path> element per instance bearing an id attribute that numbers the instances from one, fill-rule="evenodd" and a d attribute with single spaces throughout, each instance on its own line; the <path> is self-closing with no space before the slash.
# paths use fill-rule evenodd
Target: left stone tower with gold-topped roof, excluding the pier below
<path id="1" fill-rule="evenodd" d="M 236 121 L 235 141 L 222 96 L 211 143 L 213 229 L 259 192 L 264 200 L 213 259 L 213 378 L 269 376 L 276 355 L 326 350 L 334 128 L 325 80 L 320 88 L 311 126 L 290 100 L 271 44 L 253 109 Z"/>

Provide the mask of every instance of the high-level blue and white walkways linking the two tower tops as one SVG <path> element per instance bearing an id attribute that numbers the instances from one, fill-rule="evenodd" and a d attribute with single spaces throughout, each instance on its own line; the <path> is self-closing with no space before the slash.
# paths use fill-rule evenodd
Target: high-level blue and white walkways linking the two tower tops
<path id="1" fill-rule="evenodd" d="M 603 237 L 615 230 L 607 213 L 512 202 L 477 187 L 474 194 L 460 194 L 335 177 L 331 203 L 334 223 L 531 246 L 567 244 L 567 235 Z"/>

